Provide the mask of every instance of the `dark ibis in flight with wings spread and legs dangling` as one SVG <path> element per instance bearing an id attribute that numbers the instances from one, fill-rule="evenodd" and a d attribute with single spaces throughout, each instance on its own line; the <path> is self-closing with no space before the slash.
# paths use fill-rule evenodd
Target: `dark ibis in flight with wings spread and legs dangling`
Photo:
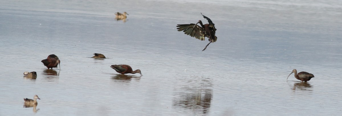
<path id="1" fill-rule="evenodd" d="M 178 31 L 183 31 L 185 34 L 190 35 L 191 37 L 195 37 L 196 39 L 199 39 L 202 41 L 205 40 L 205 37 L 207 37 L 209 38 L 209 41 L 210 41 L 208 43 L 209 45 L 210 43 L 214 43 L 217 40 L 217 37 L 215 36 L 216 29 L 215 29 L 214 23 L 210 20 L 210 18 L 204 16 L 203 14 L 202 16 L 208 20 L 209 24 L 203 25 L 202 21 L 198 20 L 196 24 L 182 24 L 182 25 L 178 24 L 177 27 L 179 28 L 177 29 Z M 201 27 L 198 26 L 197 24 L 200 24 Z M 203 50 L 206 50 L 207 46 Z"/>

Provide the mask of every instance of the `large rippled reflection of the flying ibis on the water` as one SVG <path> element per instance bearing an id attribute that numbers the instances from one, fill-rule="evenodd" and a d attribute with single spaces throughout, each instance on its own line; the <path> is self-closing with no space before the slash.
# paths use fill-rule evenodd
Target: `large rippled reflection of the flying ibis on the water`
<path id="1" fill-rule="evenodd" d="M 177 93 L 177 97 L 173 100 L 173 106 L 195 109 L 207 114 L 213 97 L 211 81 L 202 79 L 199 83 L 188 83 L 184 86 L 179 89 L 180 93 Z"/>

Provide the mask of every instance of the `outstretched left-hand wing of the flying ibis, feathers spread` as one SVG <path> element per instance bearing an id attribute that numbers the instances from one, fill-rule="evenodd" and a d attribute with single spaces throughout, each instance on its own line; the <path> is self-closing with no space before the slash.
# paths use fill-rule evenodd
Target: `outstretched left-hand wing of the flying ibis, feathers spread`
<path id="1" fill-rule="evenodd" d="M 195 26 L 195 27 L 194 27 Z M 182 24 L 182 25 L 177 25 L 176 27 L 178 31 L 183 31 L 185 34 L 190 35 L 191 37 L 195 37 L 196 39 L 199 40 L 205 40 L 205 32 L 203 29 L 195 24 Z"/>

